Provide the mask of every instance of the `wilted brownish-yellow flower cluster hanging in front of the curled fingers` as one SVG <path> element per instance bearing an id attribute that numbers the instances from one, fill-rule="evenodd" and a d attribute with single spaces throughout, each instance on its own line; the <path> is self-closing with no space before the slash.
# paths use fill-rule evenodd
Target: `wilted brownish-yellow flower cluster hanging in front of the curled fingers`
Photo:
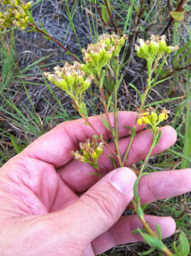
<path id="1" fill-rule="evenodd" d="M 82 163 L 89 163 L 94 169 L 98 169 L 97 160 L 102 154 L 103 149 L 104 144 L 97 142 L 96 138 L 86 139 L 85 142 L 80 142 L 80 151 L 71 151 L 70 154 L 72 154 L 76 160 Z"/>

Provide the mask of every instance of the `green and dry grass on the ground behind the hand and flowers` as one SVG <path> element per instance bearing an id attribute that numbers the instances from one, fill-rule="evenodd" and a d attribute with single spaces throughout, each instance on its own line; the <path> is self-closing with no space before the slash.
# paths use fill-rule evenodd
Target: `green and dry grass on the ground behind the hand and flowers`
<path id="1" fill-rule="evenodd" d="M 177 11 L 170 13 L 170 11 Z M 136 57 L 137 38 L 152 33 L 165 34 L 168 45 L 180 50 L 165 63 L 164 81 L 153 89 L 148 106 L 170 110 L 178 140 L 168 151 L 153 156 L 147 171 L 181 169 L 191 166 L 191 1 L 168 0 L 38 0 L 33 18 L 40 27 L 82 59 L 82 48 L 102 33 L 126 33 L 128 40 L 121 58 L 124 81 L 119 89 L 119 109 L 136 110 L 138 93 L 146 84 L 146 63 Z M 171 14 L 171 15 L 170 15 Z M 43 72 L 72 60 L 65 50 L 42 35 L 11 29 L 1 33 L 0 48 L 0 165 L 18 154 L 56 124 L 78 118 L 77 112 L 61 90 L 48 84 Z M 89 114 L 99 114 L 97 93 L 89 96 Z M 138 166 L 137 166 L 138 167 Z M 181 181 L 180 181 L 181 182 Z M 191 239 L 190 194 L 151 203 L 146 213 L 171 215 L 177 233 L 185 231 Z M 177 234 L 174 235 L 176 237 Z M 166 244 L 170 244 L 167 239 Z M 144 247 L 144 249 L 143 249 Z M 104 255 L 138 255 L 147 249 L 142 242 L 115 247 Z M 153 252 L 152 255 L 158 255 Z"/>

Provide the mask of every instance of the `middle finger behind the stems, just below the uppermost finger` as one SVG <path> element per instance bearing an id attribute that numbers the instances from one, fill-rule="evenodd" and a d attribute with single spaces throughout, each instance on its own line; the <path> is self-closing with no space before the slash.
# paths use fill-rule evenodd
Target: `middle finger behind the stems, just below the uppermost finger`
<path id="1" fill-rule="evenodd" d="M 151 155 L 165 151 L 165 149 L 168 149 L 175 143 L 176 132 L 173 127 L 166 126 L 161 128 L 161 131 L 162 136 L 160 138 L 160 142 L 155 146 Z M 128 161 L 126 161 L 126 166 L 131 166 L 131 164 L 135 164 L 137 161 L 146 158 L 152 142 L 153 133 L 151 130 L 138 132 L 133 139 L 133 143 L 129 151 L 129 158 Z M 129 138 L 124 138 L 119 141 L 121 155 L 126 151 L 128 143 Z M 111 142 L 109 146 L 114 148 L 114 143 Z M 111 160 L 107 156 L 108 154 L 109 151 L 105 149 L 99 157 L 98 164 L 102 174 L 107 174 L 109 171 L 114 169 Z M 99 180 L 99 176 L 90 175 L 92 172 L 95 172 L 92 166 L 81 163 L 75 159 L 58 169 L 58 174 L 60 174 L 63 181 L 65 181 L 65 183 L 67 183 L 67 185 L 75 192 L 84 192 Z"/>

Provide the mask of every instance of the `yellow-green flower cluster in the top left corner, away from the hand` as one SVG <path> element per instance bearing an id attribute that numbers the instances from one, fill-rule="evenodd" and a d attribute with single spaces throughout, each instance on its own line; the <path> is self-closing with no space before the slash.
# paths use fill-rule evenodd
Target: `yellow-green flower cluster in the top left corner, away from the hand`
<path id="1" fill-rule="evenodd" d="M 23 0 L 0 0 L 3 11 L 0 12 L 0 31 L 11 26 L 25 29 L 28 26 L 28 9 L 32 2 Z"/>

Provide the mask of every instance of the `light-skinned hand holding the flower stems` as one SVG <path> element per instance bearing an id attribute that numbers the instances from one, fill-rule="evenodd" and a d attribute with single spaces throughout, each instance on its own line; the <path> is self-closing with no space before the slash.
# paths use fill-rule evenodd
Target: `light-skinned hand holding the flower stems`
<path id="1" fill-rule="evenodd" d="M 113 114 L 110 114 L 114 124 Z M 120 151 L 124 154 L 136 113 L 119 112 Z M 90 117 L 104 139 L 111 134 L 102 117 Z M 137 127 L 126 166 L 144 159 L 152 143 L 152 132 Z M 161 128 L 158 154 L 175 143 L 175 130 Z M 131 234 L 142 225 L 136 215 L 121 217 L 133 198 L 136 175 L 129 168 L 112 171 L 107 149 L 99 159 L 104 178 L 89 175 L 93 169 L 70 156 L 79 142 L 94 132 L 82 119 L 63 122 L 38 138 L 0 171 L 1 256 L 72 255 L 92 256 L 115 245 L 141 240 Z M 111 144 L 111 147 L 114 146 Z M 124 190 L 117 188 L 116 177 Z M 181 182 L 180 182 L 181 181 Z M 180 195 L 191 190 L 191 169 L 160 171 L 143 176 L 138 193 L 141 203 Z M 163 238 L 175 232 L 170 217 L 146 215 L 151 228 L 158 223 Z"/>

